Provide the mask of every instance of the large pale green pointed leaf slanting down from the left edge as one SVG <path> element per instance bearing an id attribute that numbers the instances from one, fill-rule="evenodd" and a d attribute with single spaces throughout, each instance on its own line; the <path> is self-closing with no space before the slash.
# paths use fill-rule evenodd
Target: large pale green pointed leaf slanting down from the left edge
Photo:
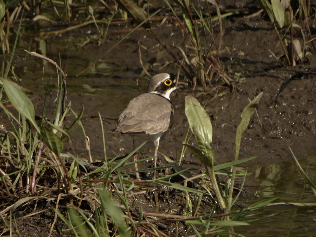
<path id="1" fill-rule="evenodd" d="M 19 88 L 15 86 L 15 83 L 4 78 L 1 80 L 3 82 L 4 91 L 12 105 L 18 112 L 20 112 L 33 124 L 38 132 L 40 132 L 40 128 L 35 122 L 35 112 L 31 100 L 26 96 L 26 94 L 24 94 Z"/>

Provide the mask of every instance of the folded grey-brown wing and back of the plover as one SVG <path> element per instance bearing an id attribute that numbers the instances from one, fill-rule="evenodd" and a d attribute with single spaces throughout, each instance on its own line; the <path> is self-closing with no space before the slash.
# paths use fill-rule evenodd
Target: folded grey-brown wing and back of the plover
<path id="1" fill-rule="evenodd" d="M 117 132 L 156 134 L 168 130 L 173 117 L 169 100 L 157 94 L 141 94 L 119 116 Z"/>

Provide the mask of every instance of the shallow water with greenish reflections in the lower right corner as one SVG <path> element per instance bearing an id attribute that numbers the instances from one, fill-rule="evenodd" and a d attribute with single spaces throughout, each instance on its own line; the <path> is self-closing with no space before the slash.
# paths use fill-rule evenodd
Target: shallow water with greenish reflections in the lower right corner
<path id="1" fill-rule="evenodd" d="M 299 159 L 301 166 L 313 181 L 316 178 L 316 155 Z M 282 192 L 286 195 L 275 202 L 276 205 L 256 210 L 253 219 L 276 214 L 268 219 L 252 222 L 246 227 L 236 227 L 235 232 L 247 237 L 251 236 L 315 236 L 316 231 L 316 197 L 295 161 L 273 163 L 266 166 L 253 165 L 247 170 L 252 173 L 251 179 L 258 183 L 254 187 L 254 195 L 246 200 L 250 205 L 263 198 L 272 197 Z M 256 198 L 253 198 L 255 196 Z M 294 203 L 294 205 L 285 204 Z M 295 203 L 308 203 L 309 206 L 297 206 Z M 313 205 L 314 204 L 314 205 Z"/>

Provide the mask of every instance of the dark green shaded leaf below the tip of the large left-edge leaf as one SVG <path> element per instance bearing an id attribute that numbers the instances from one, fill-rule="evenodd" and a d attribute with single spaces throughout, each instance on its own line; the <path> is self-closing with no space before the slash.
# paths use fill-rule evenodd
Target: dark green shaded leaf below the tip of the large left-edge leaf
<path id="1" fill-rule="evenodd" d="M 44 126 L 42 127 L 40 134 L 42 135 L 43 141 L 47 145 L 47 147 L 56 155 L 60 156 L 60 153 L 64 149 L 64 143 L 60 140 L 60 138 L 50 129 Z"/>

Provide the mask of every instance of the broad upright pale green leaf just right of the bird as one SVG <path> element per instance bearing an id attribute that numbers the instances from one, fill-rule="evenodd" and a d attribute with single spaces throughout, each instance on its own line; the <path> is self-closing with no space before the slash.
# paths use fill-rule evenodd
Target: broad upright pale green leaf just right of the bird
<path id="1" fill-rule="evenodd" d="M 198 100 L 193 96 L 185 97 L 185 115 L 191 130 L 194 126 L 208 144 L 212 143 L 213 129 L 211 119 Z M 194 135 L 196 136 L 196 134 Z"/>

